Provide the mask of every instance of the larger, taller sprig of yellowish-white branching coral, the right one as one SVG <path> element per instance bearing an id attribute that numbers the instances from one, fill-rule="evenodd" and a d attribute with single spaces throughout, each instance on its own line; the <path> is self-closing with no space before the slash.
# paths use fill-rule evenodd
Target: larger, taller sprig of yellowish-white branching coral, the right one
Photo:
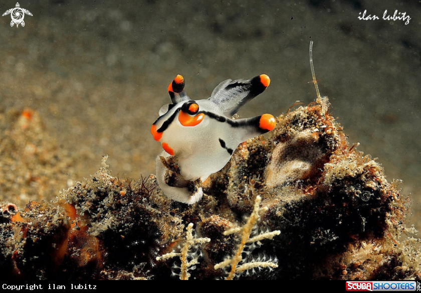
<path id="1" fill-rule="evenodd" d="M 243 226 L 228 229 L 224 232 L 224 235 L 236 233 L 238 235 L 239 241 L 234 255 L 215 265 L 215 269 L 225 268 L 227 266 L 231 267 L 231 270 L 228 273 L 226 280 L 232 280 L 235 276 L 239 276 L 245 271 L 247 271 L 247 273 L 249 272 L 249 270 L 254 271 L 255 268 L 272 269 L 278 267 L 278 259 L 276 257 L 274 259 L 269 258 L 267 260 L 266 256 L 259 256 L 258 258 L 252 259 L 251 261 L 247 262 L 247 258 L 243 258 L 242 256 L 243 253 L 250 254 L 250 252 L 254 249 L 256 244 L 260 245 L 260 240 L 272 239 L 274 236 L 279 235 L 281 233 L 281 231 L 279 230 L 272 232 L 266 231 L 251 237 L 254 231 L 257 232 L 257 228 L 255 228 L 255 225 L 260 219 L 259 213 L 268 209 L 266 206 L 262 208 L 260 207 L 261 201 L 262 198 L 260 196 L 256 196 L 253 212 Z M 247 247 L 249 249 L 245 250 L 245 248 Z"/>

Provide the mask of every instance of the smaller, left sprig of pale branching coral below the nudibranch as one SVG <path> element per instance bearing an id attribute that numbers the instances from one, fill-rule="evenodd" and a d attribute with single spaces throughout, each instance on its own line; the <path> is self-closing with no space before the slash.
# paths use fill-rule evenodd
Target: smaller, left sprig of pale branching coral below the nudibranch
<path id="1" fill-rule="evenodd" d="M 210 241 L 209 238 L 203 237 L 203 238 L 196 238 L 193 235 L 193 223 L 189 223 L 186 232 L 185 232 L 185 242 L 183 244 L 180 250 L 180 252 L 175 252 L 172 250 L 169 253 L 166 253 L 162 256 L 156 257 L 156 260 L 165 260 L 172 257 L 179 257 L 181 261 L 181 265 L 178 267 L 174 263 L 175 269 L 180 269 L 180 273 L 176 273 L 173 271 L 174 274 L 179 275 L 181 280 L 188 280 L 190 273 L 188 270 L 195 269 L 195 264 L 198 263 L 198 258 L 200 257 L 201 253 L 198 253 L 198 245 L 202 243 L 207 243 Z M 194 251 L 189 250 L 193 248 Z"/>

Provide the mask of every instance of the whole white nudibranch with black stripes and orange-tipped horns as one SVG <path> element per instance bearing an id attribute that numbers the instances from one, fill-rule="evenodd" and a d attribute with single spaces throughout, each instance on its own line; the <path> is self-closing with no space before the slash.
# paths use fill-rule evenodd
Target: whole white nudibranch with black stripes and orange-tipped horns
<path id="1" fill-rule="evenodd" d="M 276 119 L 270 114 L 232 119 L 269 84 L 266 74 L 228 79 L 209 98 L 191 100 L 184 91 L 184 78 L 175 77 L 168 86 L 172 104 L 159 109 L 150 129 L 164 149 L 156 158 L 156 176 L 166 196 L 188 204 L 200 200 L 201 182 L 224 168 L 240 143 L 275 128 Z"/>

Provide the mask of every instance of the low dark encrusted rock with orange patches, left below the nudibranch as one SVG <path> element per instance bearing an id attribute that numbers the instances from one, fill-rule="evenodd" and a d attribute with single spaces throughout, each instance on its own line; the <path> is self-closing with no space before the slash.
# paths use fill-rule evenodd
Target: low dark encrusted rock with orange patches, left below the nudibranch
<path id="1" fill-rule="evenodd" d="M 170 200 L 151 193 L 154 176 L 111 176 L 104 157 L 90 179 L 64 190 L 56 202 L 31 202 L 24 211 L 3 204 L 0 269 L 13 278 L 147 278 L 162 246 L 176 239 L 180 217 Z M 109 273 L 108 273 L 109 272 Z"/>

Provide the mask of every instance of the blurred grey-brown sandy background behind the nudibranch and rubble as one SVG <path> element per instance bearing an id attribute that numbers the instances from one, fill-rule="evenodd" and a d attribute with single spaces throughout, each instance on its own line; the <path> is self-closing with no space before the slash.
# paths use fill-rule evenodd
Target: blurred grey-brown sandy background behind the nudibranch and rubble
<path id="1" fill-rule="evenodd" d="M 20 1 L 25 27 L 0 17 L 0 111 L 30 107 L 74 158 L 72 180 L 109 155 L 113 174 L 154 173 L 150 125 L 176 74 L 192 99 L 221 81 L 266 73 L 268 90 L 243 117 L 279 115 L 322 95 L 359 151 L 404 181 L 421 218 L 419 1 Z M 0 13 L 16 0 L 2 1 Z M 359 13 L 380 20 L 359 20 Z M 382 20 L 406 13 L 405 21 Z M 1 159 L 1 158 L 0 158 Z M 67 182 L 63 186 L 67 187 Z M 421 227 L 421 225 L 417 225 Z"/>

